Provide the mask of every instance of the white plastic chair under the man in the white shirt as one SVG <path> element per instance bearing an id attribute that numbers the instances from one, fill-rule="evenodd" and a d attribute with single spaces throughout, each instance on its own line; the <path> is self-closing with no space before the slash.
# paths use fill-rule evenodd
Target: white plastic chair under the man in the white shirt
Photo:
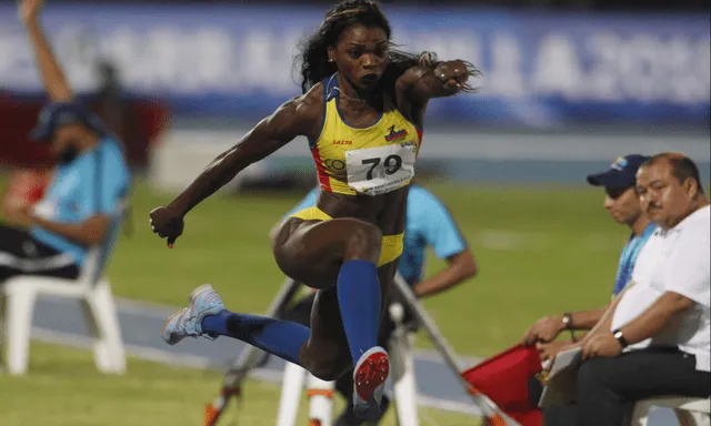
<path id="1" fill-rule="evenodd" d="M 630 426 L 647 426 L 652 406 L 672 408 L 681 426 L 711 425 L 711 399 L 664 396 L 637 402 Z"/>

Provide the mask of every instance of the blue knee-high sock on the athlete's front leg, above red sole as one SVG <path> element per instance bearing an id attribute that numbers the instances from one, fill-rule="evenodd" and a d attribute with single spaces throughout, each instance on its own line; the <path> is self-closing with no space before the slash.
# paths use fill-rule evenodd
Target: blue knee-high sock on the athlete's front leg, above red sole
<path id="1" fill-rule="evenodd" d="M 343 329 L 356 364 L 365 351 L 378 344 L 378 266 L 360 260 L 344 262 L 338 275 L 337 293 Z"/>

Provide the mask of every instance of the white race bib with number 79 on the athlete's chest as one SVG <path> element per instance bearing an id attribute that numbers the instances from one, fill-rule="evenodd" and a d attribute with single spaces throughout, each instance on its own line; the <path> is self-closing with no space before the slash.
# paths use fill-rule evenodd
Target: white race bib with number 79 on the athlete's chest
<path id="1" fill-rule="evenodd" d="M 414 144 L 346 151 L 348 185 L 359 194 L 380 195 L 407 185 L 414 176 Z"/>

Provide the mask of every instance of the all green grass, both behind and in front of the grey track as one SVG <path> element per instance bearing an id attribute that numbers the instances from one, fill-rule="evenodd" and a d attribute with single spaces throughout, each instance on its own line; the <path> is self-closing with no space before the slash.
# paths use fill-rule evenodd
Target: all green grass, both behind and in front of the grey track
<path id="1" fill-rule="evenodd" d="M 627 231 L 608 217 L 599 191 L 431 189 L 459 221 L 480 265 L 474 280 L 425 301 L 460 353 L 492 355 L 518 342 L 542 315 L 594 307 L 609 300 Z M 211 283 L 231 310 L 264 311 L 283 281 L 267 234 L 300 196 L 209 199 L 190 213 L 186 234 L 168 250 L 151 233 L 148 213 L 170 197 L 138 185 L 132 197 L 134 233 L 120 239 L 109 265 L 114 293 L 183 305 L 194 286 Z M 430 253 L 428 274 L 441 266 Z M 418 342 L 427 346 L 424 339 Z M 28 377 L 0 376 L 0 426 L 196 425 L 202 403 L 216 396 L 220 378 L 213 372 L 134 359 L 127 376 L 106 377 L 96 373 L 88 353 L 34 344 Z M 228 412 L 232 417 L 226 424 L 273 424 L 279 388 L 250 383 L 247 392 L 244 408 Z M 441 425 L 477 422 L 435 410 L 423 413 Z M 393 424 L 392 417 L 389 422 Z"/>

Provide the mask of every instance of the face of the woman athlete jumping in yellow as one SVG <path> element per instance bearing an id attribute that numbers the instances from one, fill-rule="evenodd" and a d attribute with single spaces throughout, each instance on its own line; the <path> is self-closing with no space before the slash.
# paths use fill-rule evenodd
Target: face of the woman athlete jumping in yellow
<path id="1" fill-rule="evenodd" d="M 357 24 L 341 32 L 336 45 L 329 48 L 329 59 L 351 84 L 370 90 L 385 71 L 388 48 L 388 36 L 382 28 Z"/>

